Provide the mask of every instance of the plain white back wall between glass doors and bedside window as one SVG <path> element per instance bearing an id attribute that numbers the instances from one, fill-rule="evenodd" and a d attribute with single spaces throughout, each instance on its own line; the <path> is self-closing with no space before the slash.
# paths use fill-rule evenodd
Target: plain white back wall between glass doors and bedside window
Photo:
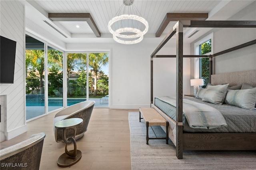
<path id="1" fill-rule="evenodd" d="M 112 70 L 110 71 L 110 86 L 112 88 L 110 91 L 110 108 L 138 109 L 139 107 L 150 107 L 150 55 L 157 46 L 158 43 L 138 43 L 134 45 L 123 45 L 119 43 L 67 44 L 67 50 L 111 49 Z M 159 54 L 168 55 L 173 49 L 176 50 L 176 47 L 166 47 Z M 190 48 L 188 47 L 186 51 L 190 51 Z M 154 64 L 154 70 L 156 70 L 154 76 L 154 86 L 156 87 L 154 87 L 154 91 L 157 91 L 156 94 L 175 95 L 176 61 L 157 60 L 158 62 Z M 162 79 L 162 75 L 164 74 L 168 75 L 167 78 L 161 80 L 161 84 L 165 84 L 166 86 L 164 88 L 161 87 L 159 90 L 158 86 L 160 84 L 158 79 Z M 185 94 L 189 93 L 186 89 L 190 88 L 186 87 L 189 86 L 188 82 L 190 80 L 190 63 L 188 59 L 184 61 L 184 74 L 188 75 L 184 76 Z"/>

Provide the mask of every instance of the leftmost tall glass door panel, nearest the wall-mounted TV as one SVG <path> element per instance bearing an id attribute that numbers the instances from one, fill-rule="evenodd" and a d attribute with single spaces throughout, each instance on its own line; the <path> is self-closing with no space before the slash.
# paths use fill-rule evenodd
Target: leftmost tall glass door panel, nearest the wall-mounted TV
<path id="1" fill-rule="evenodd" d="M 26 120 L 45 114 L 44 43 L 26 35 Z"/>

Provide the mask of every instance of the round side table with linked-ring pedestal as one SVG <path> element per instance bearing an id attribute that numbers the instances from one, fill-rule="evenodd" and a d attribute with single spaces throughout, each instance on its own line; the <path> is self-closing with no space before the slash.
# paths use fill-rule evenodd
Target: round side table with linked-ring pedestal
<path id="1" fill-rule="evenodd" d="M 83 123 L 83 119 L 80 118 L 70 118 L 59 121 L 55 124 L 55 128 L 62 130 L 62 138 L 66 143 L 65 153 L 60 155 L 58 158 L 57 164 L 60 167 L 67 167 L 76 164 L 82 157 L 82 152 L 76 148 L 76 127 Z M 73 129 L 74 136 L 66 138 L 66 130 Z M 74 144 L 74 150 L 68 151 L 67 145 L 72 143 Z"/>

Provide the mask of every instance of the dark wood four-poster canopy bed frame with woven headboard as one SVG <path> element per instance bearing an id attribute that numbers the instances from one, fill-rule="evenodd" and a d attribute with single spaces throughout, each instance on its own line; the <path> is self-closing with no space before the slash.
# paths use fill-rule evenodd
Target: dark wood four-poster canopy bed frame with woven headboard
<path id="1" fill-rule="evenodd" d="M 176 146 L 176 156 L 183 158 L 183 150 L 256 150 L 256 132 L 185 132 L 183 130 L 183 57 L 209 57 L 210 83 L 251 83 L 256 87 L 256 70 L 228 75 L 213 75 L 212 59 L 218 55 L 240 49 L 256 43 L 253 40 L 242 45 L 215 53 L 213 55 L 183 55 L 183 28 L 184 27 L 208 27 L 208 28 L 256 28 L 256 21 L 178 21 L 173 30 L 158 45 L 151 55 L 151 105 L 163 117 L 169 121 L 169 137 Z M 156 55 L 172 36 L 176 34 L 176 55 Z M 171 119 L 161 109 L 153 105 L 153 59 L 154 57 L 176 57 L 176 119 Z M 248 75 L 252 79 L 248 79 Z M 235 77 L 230 81 L 228 77 Z M 223 78 L 224 77 L 224 78 Z M 244 79 L 247 77 L 247 79 Z M 230 81 L 230 82 L 228 82 Z M 249 82 L 246 82 L 249 81 Z M 256 113 L 256 111 L 255 111 Z"/>

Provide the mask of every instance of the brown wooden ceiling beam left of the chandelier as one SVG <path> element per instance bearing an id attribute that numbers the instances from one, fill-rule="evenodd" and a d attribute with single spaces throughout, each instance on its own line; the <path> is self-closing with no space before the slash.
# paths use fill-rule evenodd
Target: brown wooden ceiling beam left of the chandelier
<path id="1" fill-rule="evenodd" d="M 100 31 L 90 13 L 48 13 L 48 18 L 52 21 L 85 21 L 96 37 L 100 37 Z"/>

